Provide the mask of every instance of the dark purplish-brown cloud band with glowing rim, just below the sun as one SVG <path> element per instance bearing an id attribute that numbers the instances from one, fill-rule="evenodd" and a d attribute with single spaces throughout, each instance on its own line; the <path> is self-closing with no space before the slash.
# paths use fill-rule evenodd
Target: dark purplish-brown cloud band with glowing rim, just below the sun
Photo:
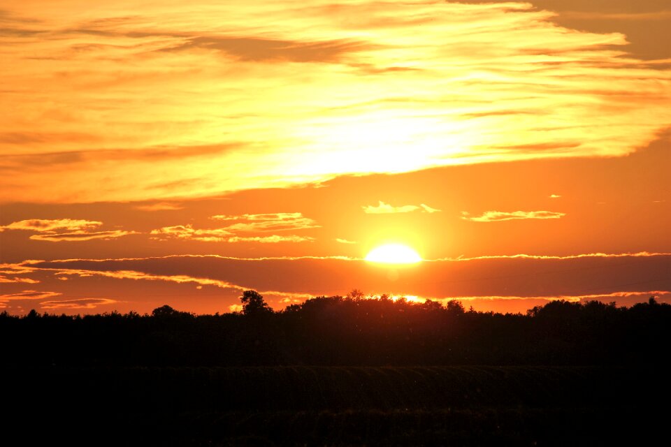
<path id="1" fill-rule="evenodd" d="M 671 254 L 585 254 L 567 257 L 498 256 L 444 260 L 417 265 L 380 265 L 337 258 L 238 259 L 221 256 L 26 261 L 34 273 L 94 275 L 115 279 L 167 281 L 241 291 L 254 288 L 273 297 L 305 299 L 366 293 L 435 299 L 503 298 L 579 300 L 586 297 L 639 297 L 671 291 Z M 295 281 L 296 277 L 303 281 Z M 504 293 L 502 293 L 504 292 Z M 237 304 L 235 299 L 229 305 Z M 185 306 L 188 304 L 185 302 Z"/>

